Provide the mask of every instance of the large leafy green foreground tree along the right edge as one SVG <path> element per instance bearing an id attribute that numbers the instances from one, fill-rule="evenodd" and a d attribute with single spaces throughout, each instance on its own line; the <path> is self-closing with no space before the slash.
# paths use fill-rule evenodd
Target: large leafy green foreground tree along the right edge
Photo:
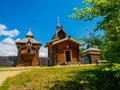
<path id="1" fill-rule="evenodd" d="M 74 8 L 71 18 L 85 21 L 102 17 L 95 30 L 104 30 L 106 56 L 111 62 L 120 63 L 120 0 L 83 0 L 86 8 Z"/>

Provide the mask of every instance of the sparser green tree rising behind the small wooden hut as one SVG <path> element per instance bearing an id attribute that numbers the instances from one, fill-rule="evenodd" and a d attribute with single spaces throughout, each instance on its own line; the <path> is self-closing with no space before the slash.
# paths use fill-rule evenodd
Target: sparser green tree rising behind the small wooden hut
<path id="1" fill-rule="evenodd" d="M 101 50 L 101 59 L 106 59 L 105 56 L 105 40 L 104 40 L 104 35 L 102 34 L 96 34 L 95 31 L 91 32 L 87 30 L 89 36 L 83 36 L 83 37 L 77 37 L 78 41 L 82 41 L 84 45 L 89 45 L 91 44 L 93 47 L 98 48 Z"/>

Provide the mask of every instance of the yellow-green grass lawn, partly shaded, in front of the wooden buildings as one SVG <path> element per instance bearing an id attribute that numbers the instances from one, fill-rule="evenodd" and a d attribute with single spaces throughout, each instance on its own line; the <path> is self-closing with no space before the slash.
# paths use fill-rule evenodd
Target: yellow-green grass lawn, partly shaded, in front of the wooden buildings
<path id="1" fill-rule="evenodd" d="M 114 82 L 95 65 L 48 67 L 10 77 L 0 90 L 115 90 Z"/>

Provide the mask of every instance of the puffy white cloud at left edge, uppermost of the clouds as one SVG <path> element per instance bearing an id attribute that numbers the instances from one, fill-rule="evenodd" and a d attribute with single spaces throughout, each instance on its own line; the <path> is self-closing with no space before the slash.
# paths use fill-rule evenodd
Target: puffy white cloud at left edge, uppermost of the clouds
<path id="1" fill-rule="evenodd" d="M 7 27 L 3 24 L 0 24 L 0 36 L 9 36 L 15 37 L 19 35 L 19 31 L 17 29 L 7 30 Z"/>

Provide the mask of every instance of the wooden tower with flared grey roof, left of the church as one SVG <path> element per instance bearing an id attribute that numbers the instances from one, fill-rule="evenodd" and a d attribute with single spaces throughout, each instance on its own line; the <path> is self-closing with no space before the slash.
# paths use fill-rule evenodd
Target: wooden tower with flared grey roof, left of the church
<path id="1" fill-rule="evenodd" d="M 26 38 L 16 42 L 18 48 L 17 66 L 38 66 L 40 65 L 39 49 L 41 43 L 34 39 L 31 30 Z"/>

